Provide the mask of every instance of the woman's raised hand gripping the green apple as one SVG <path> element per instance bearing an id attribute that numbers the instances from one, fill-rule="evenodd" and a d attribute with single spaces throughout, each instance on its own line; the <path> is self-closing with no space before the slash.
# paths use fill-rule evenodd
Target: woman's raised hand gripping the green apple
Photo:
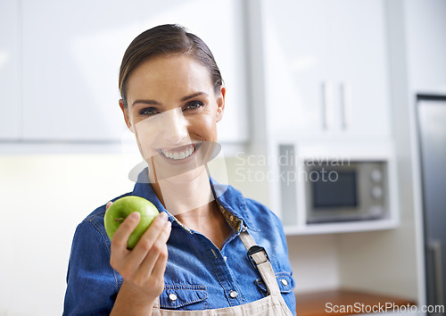
<path id="1" fill-rule="evenodd" d="M 106 205 L 107 210 L 110 205 L 111 202 Z M 128 237 L 136 229 L 139 220 L 138 212 L 131 213 L 114 233 L 111 240 L 110 264 L 124 279 L 116 303 L 121 301 L 120 296 L 125 296 L 125 304 L 128 307 L 131 304 L 135 307 L 150 305 L 152 308 L 154 300 L 161 295 L 164 288 L 164 271 L 168 259 L 166 243 L 171 223 L 167 220 L 166 212 L 161 212 L 136 246 L 128 250 Z M 126 293 L 121 294 L 122 291 Z M 128 302 L 128 299 L 131 302 Z"/>

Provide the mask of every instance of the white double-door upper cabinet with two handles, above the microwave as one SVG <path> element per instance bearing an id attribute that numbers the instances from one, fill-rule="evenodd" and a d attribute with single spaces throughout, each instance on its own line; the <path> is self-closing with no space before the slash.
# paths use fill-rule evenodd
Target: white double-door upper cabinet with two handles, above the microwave
<path id="1" fill-rule="evenodd" d="M 272 134 L 390 137 L 384 1 L 263 0 L 261 5 Z"/>

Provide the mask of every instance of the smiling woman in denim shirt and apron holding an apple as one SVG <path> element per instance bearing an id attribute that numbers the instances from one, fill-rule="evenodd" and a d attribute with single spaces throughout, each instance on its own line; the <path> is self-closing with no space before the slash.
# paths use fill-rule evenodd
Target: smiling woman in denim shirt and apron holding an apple
<path id="1" fill-rule="evenodd" d="M 103 228 L 112 202 L 78 225 L 64 314 L 295 314 L 280 220 L 207 172 L 226 94 L 209 48 L 177 25 L 145 31 L 124 54 L 120 93 L 148 164 L 126 195 L 150 200 L 160 216 L 131 251 L 137 212 L 112 241 Z"/>

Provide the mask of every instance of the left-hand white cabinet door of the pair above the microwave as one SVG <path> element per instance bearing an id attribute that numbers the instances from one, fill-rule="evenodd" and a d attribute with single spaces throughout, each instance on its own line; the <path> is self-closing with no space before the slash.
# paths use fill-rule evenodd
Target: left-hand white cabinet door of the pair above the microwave
<path id="1" fill-rule="evenodd" d="M 323 0 L 263 1 L 268 119 L 274 134 L 323 129 L 328 34 Z"/>

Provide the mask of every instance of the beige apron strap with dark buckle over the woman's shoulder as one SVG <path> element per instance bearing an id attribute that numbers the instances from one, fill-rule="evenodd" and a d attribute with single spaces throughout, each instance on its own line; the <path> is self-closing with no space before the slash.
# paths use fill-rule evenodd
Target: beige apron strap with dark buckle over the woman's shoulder
<path id="1" fill-rule="evenodd" d="M 257 265 L 257 269 L 260 272 L 260 277 L 267 286 L 268 295 L 280 295 L 276 275 L 271 262 L 269 262 L 268 254 L 265 249 L 256 245 L 254 239 L 248 233 L 248 230 L 245 227 L 240 233 L 240 239 L 242 239 L 244 247 L 246 250 L 248 250 L 248 257 L 252 257 Z M 251 260 L 251 258 L 249 259 Z"/>

